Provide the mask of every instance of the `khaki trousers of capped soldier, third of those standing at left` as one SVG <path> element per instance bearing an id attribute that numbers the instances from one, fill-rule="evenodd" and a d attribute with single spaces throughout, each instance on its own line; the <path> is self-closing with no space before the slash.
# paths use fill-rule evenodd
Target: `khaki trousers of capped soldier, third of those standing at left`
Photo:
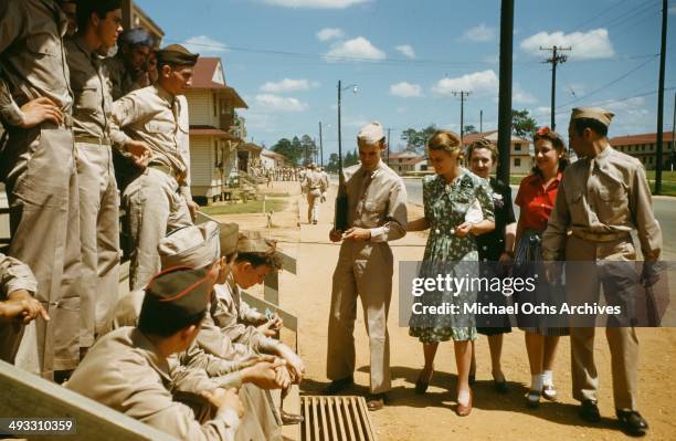
<path id="1" fill-rule="evenodd" d="M 178 228 L 192 225 L 188 204 L 178 189 L 176 179 L 155 168 L 146 168 L 125 189 L 123 204 L 134 242 L 129 266 L 131 291 L 146 287 L 160 271 L 157 251 L 160 240 Z"/>

